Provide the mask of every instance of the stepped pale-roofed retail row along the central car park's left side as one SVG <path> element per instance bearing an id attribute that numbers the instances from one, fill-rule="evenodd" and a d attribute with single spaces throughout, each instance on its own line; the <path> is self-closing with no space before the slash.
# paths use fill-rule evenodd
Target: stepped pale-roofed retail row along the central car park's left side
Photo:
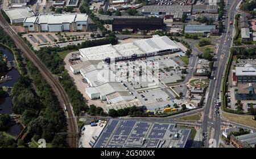
<path id="1" fill-rule="evenodd" d="M 97 60 L 85 60 L 82 58 L 81 63 L 71 65 L 70 69 L 74 73 L 80 72 L 84 82 L 89 84 L 85 88 L 86 94 L 90 99 L 106 100 L 110 105 L 106 105 L 107 112 L 111 108 L 125 108 L 130 106 L 142 106 L 141 102 L 134 101 L 135 98 L 115 79 L 112 71 L 106 67 L 105 63 Z M 130 103 L 130 104 L 127 104 Z M 120 106 L 122 105 L 122 106 Z"/>

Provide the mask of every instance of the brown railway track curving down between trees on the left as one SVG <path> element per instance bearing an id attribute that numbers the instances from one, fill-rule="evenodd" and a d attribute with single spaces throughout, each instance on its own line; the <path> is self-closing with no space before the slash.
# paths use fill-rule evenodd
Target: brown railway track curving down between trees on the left
<path id="1" fill-rule="evenodd" d="M 5 32 L 14 40 L 16 46 L 22 51 L 22 53 L 26 54 L 27 58 L 30 59 L 31 62 L 34 63 L 35 67 L 38 68 L 43 78 L 46 79 L 47 83 L 51 86 L 53 92 L 55 92 L 60 104 L 61 108 L 64 110 L 64 106 L 67 108 L 67 133 L 71 135 L 68 137 L 68 145 L 69 147 L 75 148 L 77 147 L 77 123 L 76 118 L 73 115 L 72 106 L 68 100 L 67 94 L 65 94 L 64 89 L 61 87 L 59 81 L 54 78 L 54 76 L 49 72 L 48 68 L 43 64 L 42 61 L 34 54 L 34 52 L 28 48 L 24 41 L 16 34 L 16 32 L 10 27 L 9 23 L 3 18 L 2 14 L 0 14 L 0 26 L 5 30 Z"/>

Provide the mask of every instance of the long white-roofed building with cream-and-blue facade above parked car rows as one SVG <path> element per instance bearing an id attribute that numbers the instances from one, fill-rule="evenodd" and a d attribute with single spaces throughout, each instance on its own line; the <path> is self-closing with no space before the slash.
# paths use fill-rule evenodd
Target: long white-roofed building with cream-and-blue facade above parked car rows
<path id="1" fill-rule="evenodd" d="M 25 32 L 86 31 L 86 14 L 40 14 L 24 19 Z"/>

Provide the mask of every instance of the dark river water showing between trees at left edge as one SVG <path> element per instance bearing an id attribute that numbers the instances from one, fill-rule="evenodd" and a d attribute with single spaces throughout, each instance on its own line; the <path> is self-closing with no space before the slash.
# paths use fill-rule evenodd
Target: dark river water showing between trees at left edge
<path id="1" fill-rule="evenodd" d="M 7 61 L 14 61 L 14 54 L 11 53 L 10 50 L 2 48 L 1 46 L 0 46 L 0 50 L 2 50 L 3 54 L 7 55 L 7 57 L 8 57 Z M 14 83 L 16 83 L 18 81 L 19 71 L 16 70 L 15 68 L 12 68 L 10 71 L 0 74 L 0 78 L 1 78 L 1 76 L 6 76 L 6 75 L 11 76 L 12 79 L 0 83 L 0 87 L 2 87 L 2 86 L 13 87 Z M 10 96 L 7 96 L 5 98 L 0 98 L 0 108 L 2 108 L 2 110 L 0 110 L 0 114 L 13 113 L 13 111 L 11 110 L 11 107 L 12 107 L 12 103 L 11 103 Z M 19 132 L 22 130 L 22 128 L 23 127 L 20 124 L 14 124 L 13 126 L 8 127 L 6 132 L 8 132 L 11 135 L 16 136 L 19 134 Z"/>

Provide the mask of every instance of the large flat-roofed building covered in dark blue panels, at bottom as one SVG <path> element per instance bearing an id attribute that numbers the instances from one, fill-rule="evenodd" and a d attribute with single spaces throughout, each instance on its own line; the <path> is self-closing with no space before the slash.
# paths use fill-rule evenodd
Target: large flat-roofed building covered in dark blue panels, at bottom
<path id="1" fill-rule="evenodd" d="M 191 129 L 175 123 L 110 119 L 93 147 L 187 148 L 191 144 Z"/>

